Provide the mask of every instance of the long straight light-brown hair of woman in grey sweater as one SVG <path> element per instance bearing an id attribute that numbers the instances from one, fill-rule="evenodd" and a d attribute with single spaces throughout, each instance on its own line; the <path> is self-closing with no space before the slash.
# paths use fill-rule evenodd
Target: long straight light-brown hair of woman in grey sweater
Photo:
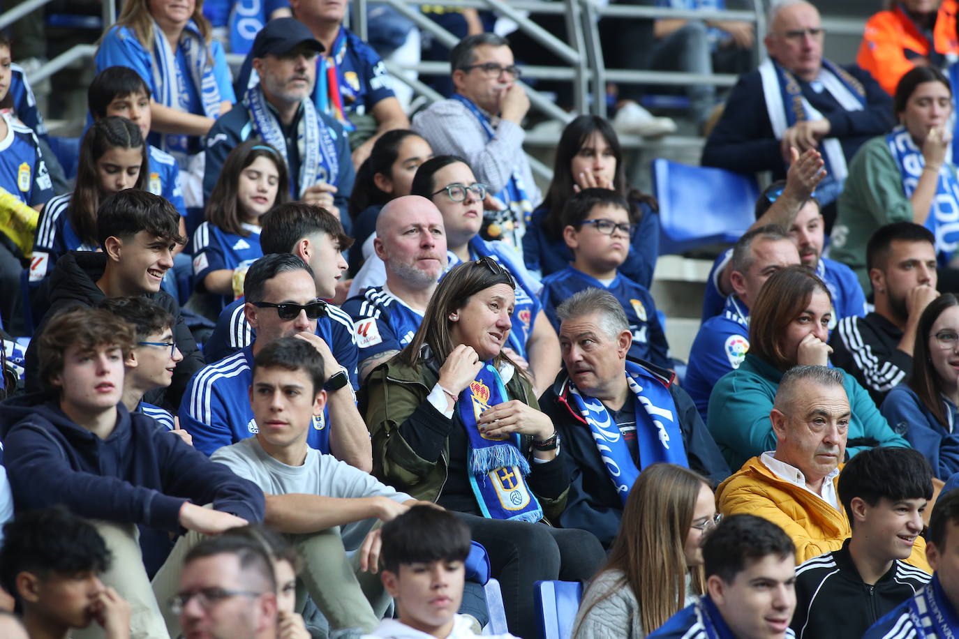
<path id="1" fill-rule="evenodd" d="M 687 574 L 693 592 L 705 592 L 703 567 L 687 565 L 683 550 L 703 486 L 709 484 L 701 475 L 675 464 L 651 464 L 643 469 L 629 491 L 609 559 L 599 571 L 619 570 L 622 578 L 590 608 L 623 586 L 632 588 L 640 603 L 643 631 L 648 634 L 686 604 Z M 580 615 L 580 624 L 588 612 Z M 574 628 L 573 636 L 578 629 Z"/>

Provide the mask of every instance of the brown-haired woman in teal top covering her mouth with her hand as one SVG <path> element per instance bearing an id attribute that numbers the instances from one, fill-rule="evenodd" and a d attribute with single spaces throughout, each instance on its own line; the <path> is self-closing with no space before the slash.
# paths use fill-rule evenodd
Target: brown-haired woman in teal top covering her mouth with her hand
<path id="1" fill-rule="evenodd" d="M 707 425 L 730 468 L 776 448 L 769 411 L 780 379 L 793 366 L 829 365 L 831 317 L 829 288 L 805 266 L 788 266 L 762 285 L 750 311 L 749 352 L 710 395 Z M 847 454 L 876 445 L 908 446 L 879 414 L 868 391 L 845 371 L 843 378 L 853 411 Z"/>

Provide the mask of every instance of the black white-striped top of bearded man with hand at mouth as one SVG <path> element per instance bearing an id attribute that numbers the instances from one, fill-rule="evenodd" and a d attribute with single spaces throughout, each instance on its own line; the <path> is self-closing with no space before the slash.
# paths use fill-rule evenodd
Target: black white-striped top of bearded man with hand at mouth
<path id="1" fill-rule="evenodd" d="M 880 406 L 912 375 L 912 355 L 899 350 L 901 339 L 901 329 L 877 312 L 843 317 L 830 337 L 830 361 L 855 377 Z"/>

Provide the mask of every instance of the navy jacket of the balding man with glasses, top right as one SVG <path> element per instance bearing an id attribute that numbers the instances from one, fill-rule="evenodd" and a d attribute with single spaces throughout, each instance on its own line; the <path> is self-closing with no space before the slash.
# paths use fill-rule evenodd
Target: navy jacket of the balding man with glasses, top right
<path id="1" fill-rule="evenodd" d="M 809 82 L 796 80 L 803 97 L 829 120 L 829 137 L 839 140 L 848 162 L 864 142 L 888 133 L 896 123 L 892 98 L 878 82 L 855 65 L 843 68 L 865 89 L 866 105 L 861 111 L 847 111 L 828 91 L 817 93 Z M 775 178 L 785 177 L 780 141 L 773 135 L 758 70 L 740 76 L 733 87 L 722 117 L 706 140 L 702 165 L 739 173 L 772 171 Z"/>

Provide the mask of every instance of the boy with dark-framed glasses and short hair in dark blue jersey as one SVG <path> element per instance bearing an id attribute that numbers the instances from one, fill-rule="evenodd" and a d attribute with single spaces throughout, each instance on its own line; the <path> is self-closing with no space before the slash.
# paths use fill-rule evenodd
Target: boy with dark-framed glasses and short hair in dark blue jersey
<path id="1" fill-rule="evenodd" d="M 612 293 L 626 311 L 633 345 L 629 354 L 670 369 L 666 332 L 649 290 L 619 271 L 636 232 L 629 204 L 609 189 L 584 189 L 563 212 L 563 239 L 573 262 L 543 280 L 540 299 L 550 322 L 559 331 L 556 307 L 573 293 L 595 286 Z"/>

